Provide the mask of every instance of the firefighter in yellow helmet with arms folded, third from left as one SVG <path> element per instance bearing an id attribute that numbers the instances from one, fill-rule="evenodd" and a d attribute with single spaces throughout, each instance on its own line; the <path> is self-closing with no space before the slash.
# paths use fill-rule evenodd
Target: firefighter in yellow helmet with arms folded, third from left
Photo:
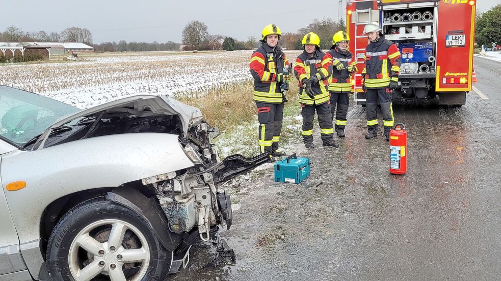
<path id="1" fill-rule="evenodd" d="M 335 124 L 338 137 L 345 137 L 346 115 L 348 114 L 348 99 L 351 93 L 351 75 L 357 73 L 357 61 L 353 60 L 353 54 L 348 50 L 350 37 L 346 32 L 339 31 L 332 37 L 332 47 L 325 54 L 324 60 L 328 59 L 333 64 L 332 75 L 329 78 L 329 93 L 332 120 Z"/>

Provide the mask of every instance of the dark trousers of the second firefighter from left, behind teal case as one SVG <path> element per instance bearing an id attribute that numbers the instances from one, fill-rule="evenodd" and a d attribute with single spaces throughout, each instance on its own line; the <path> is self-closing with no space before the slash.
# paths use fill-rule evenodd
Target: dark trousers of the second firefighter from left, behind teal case
<path id="1" fill-rule="evenodd" d="M 332 127 L 332 115 L 330 105 L 324 102 L 320 105 L 301 104 L 301 115 L 303 116 L 303 142 L 313 142 L 313 118 L 315 117 L 315 110 L 319 118 L 320 135 L 322 142 L 326 143 L 334 139 L 334 129 Z"/>

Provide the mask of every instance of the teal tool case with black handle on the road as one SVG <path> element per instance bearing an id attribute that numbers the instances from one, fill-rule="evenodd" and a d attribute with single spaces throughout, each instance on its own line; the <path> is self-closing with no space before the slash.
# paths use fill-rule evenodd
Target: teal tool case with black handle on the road
<path id="1" fill-rule="evenodd" d="M 276 182 L 300 183 L 309 175 L 310 158 L 297 157 L 296 153 L 275 163 Z"/>

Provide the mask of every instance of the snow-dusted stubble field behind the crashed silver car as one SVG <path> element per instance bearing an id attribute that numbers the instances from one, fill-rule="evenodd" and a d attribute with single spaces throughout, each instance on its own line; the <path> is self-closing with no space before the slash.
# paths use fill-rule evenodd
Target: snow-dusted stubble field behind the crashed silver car
<path id="1" fill-rule="evenodd" d="M 249 50 L 98 54 L 81 62 L 0 67 L 0 85 L 80 108 L 139 94 L 202 97 L 210 88 L 252 79 L 251 54 Z"/>

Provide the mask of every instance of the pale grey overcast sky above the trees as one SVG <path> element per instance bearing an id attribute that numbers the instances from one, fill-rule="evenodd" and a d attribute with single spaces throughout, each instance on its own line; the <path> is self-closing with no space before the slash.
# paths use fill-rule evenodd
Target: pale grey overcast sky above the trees
<path id="1" fill-rule="evenodd" d="M 259 38 L 262 28 L 269 23 L 277 24 L 284 33 L 296 32 L 315 18 L 337 21 L 337 0 L 307 3 L 299 0 L 5 1 L 0 32 L 11 25 L 25 32 L 47 33 L 77 26 L 90 30 L 94 43 L 122 39 L 181 42 L 183 27 L 192 20 L 200 20 L 208 26 L 209 34 L 245 41 L 250 36 Z M 498 3 L 501 0 L 478 0 L 477 8 L 484 12 Z"/>

